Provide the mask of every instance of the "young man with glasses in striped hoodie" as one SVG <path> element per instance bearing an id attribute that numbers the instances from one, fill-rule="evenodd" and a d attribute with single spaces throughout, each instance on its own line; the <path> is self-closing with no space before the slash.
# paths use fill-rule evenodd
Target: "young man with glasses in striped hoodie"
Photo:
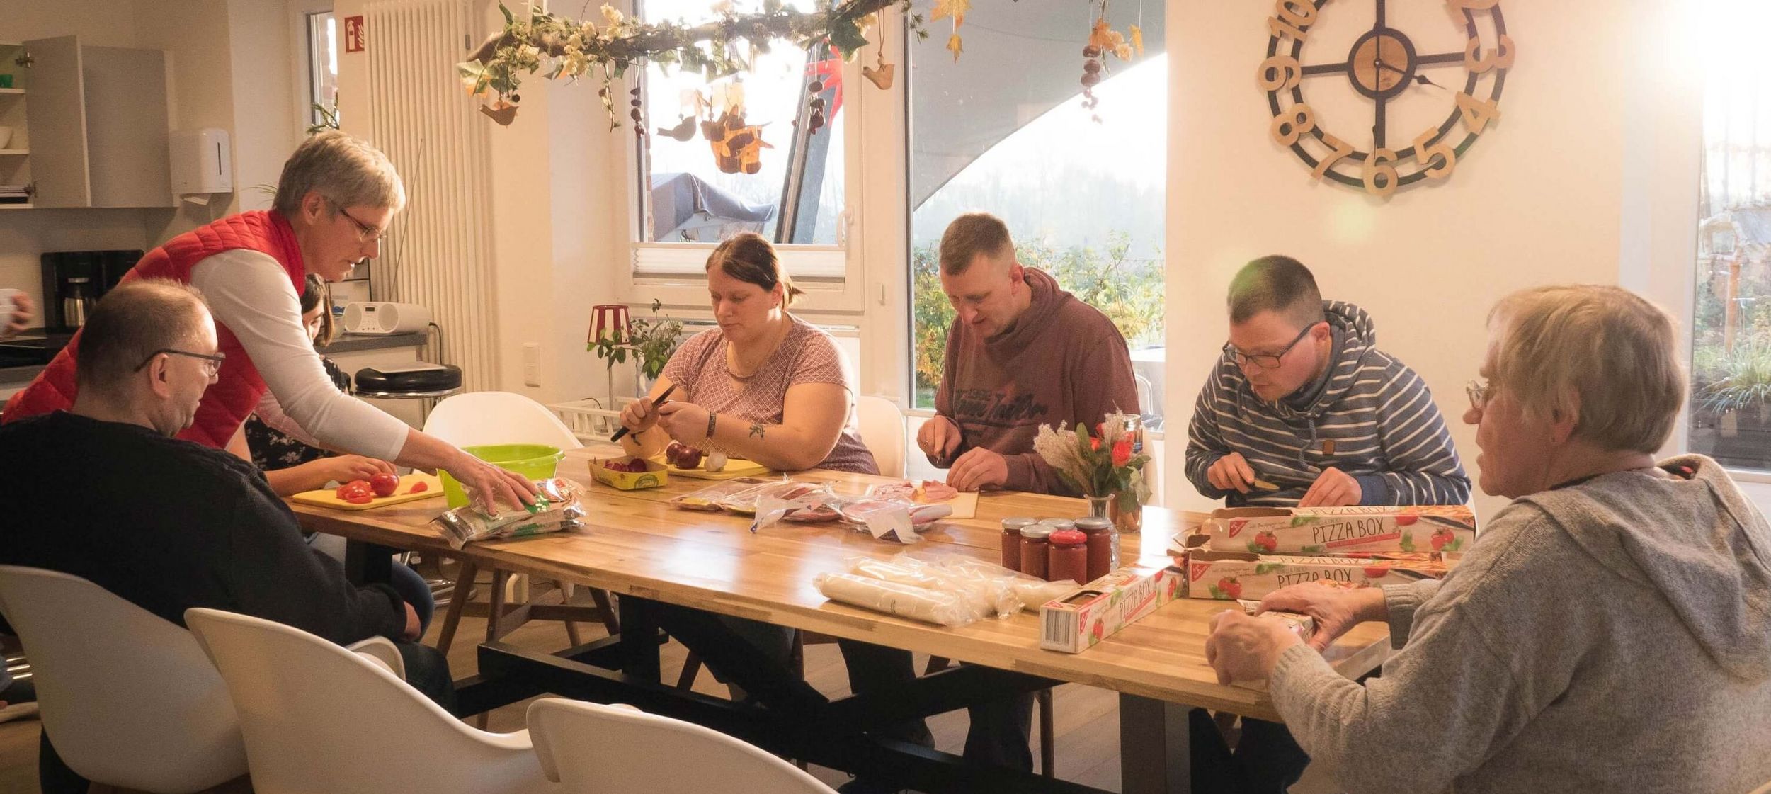
<path id="1" fill-rule="evenodd" d="M 1229 285 L 1229 344 L 1187 427 L 1187 479 L 1231 507 L 1461 505 L 1470 479 L 1415 370 L 1378 351 L 1371 315 L 1323 301 L 1291 257 Z M 1197 790 L 1277 794 L 1309 755 L 1284 725 L 1243 718 L 1234 753 L 1194 709 Z"/>

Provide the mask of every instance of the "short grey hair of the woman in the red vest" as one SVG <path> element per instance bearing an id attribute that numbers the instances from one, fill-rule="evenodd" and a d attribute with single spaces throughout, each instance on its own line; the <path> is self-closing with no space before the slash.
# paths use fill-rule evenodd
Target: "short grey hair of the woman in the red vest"
<path id="1" fill-rule="evenodd" d="M 271 209 L 294 216 L 308 191 L 336 207 L 406 207 L 406 186 L 393 163 L 363 138 L 328 129 L 308 136 L 283 163 Z"/>

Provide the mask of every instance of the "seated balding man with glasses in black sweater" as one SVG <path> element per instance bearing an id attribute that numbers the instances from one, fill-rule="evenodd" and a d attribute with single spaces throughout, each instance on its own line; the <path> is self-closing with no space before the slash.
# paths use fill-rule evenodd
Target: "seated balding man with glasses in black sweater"
<path id="1" fill-rule="evenodd" d="M 418 615 L 391 587 L 345 581 L 250 463 L 172 438 L 214 381 L 216 349 L 189 287 L 138 280 L 106 294 L 80 340 L 73 409 L 0 427 L 0 562 L 87 578 L 179 626 L 211 606 L 340 645 L 388 636 L 407 681 L 450 707 L 448 663 L 413 642 Z M 48 734 L 39 775 L 46 792 L 85 790 Z"/>

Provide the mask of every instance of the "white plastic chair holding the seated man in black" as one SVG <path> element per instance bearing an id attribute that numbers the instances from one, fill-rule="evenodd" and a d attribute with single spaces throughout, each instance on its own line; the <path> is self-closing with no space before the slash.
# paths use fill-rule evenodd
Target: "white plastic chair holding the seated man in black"
<path id="1" fill-rule="evenodd" d="M 156 794 L 246 775 L 234 704 L 189 631 L 80 576 L 0 565 L 43 728 L 69 769 Z"/>

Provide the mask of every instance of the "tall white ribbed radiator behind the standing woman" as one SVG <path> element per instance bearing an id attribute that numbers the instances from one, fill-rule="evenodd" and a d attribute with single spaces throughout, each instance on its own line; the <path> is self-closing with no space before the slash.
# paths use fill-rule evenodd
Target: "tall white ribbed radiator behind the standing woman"
<path id="1" fill-rule="evenodd" d="M 473 41 L 471 19 L 464 0 L 363 9 L 370 140 L 406 181 L 406 211 L 374 266 L 375 298 L 429 307 L 446 363 L 480 392 L 498 388 L 498 301 L 487 121 L 453 69 L 462 41 Z"/>

